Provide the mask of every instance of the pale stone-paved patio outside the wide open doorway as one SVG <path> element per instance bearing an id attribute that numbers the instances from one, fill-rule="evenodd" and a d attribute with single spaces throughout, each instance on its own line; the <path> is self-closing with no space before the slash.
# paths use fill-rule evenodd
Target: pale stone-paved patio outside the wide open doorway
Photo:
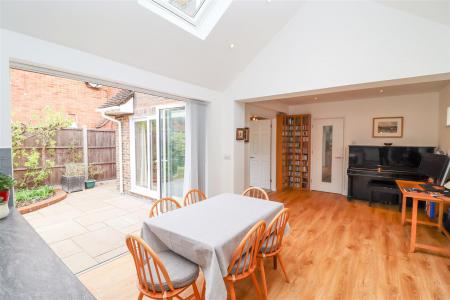
<path id="1" fill-rule="evenodd" d="M 24 217 L 77 274 L 127 252 L 125 235 L 139 234 L 150 203 L 108 182 Z"/>

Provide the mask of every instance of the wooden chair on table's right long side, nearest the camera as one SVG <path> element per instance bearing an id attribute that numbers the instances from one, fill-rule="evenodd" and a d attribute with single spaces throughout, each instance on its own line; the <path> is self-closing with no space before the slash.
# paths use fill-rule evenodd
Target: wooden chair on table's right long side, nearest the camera
<path id="1" fill-rule="evenodd" d="M 234 250 L 231 262 L 228 266 L 228 274 L 224 277 L 231 300 L 236 299 L 234 283 L 248 277 L 251 277 L 258 296 L 260 298 L 262 297 L 258 280 L 256 279 L 255 269 L 257 265 L 257 255 L 261 246 L 261 238 L 264 235 L 265 228 L 266 223 L 264 221 L 256 223 Z"/>

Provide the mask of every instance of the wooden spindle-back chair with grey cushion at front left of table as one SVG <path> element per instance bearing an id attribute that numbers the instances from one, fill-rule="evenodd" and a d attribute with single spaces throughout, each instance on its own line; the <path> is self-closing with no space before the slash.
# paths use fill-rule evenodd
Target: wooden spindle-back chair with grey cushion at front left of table
<path id="1" fill-rule="evenodd" d="M 194 296 L 201 300 L 195 283 L 199 274 L 196 264 L 172 251 L 156 254 L 137 236 L 128 235 L 126 244 L 136 267 L 138 300 L 144 296 L 152 299 L 190 299 Z M 192 287 L 193 295 L 182 298 L 180 294 L 189 287 Z"/>

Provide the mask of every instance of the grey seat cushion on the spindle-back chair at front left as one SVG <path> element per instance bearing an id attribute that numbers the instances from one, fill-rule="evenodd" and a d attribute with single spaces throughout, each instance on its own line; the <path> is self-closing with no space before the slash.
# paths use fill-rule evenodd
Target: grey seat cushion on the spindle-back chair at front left
<path id="1" fill-rule="evenodd" d="M 198 277 L 199 268 L 198 265 L 187 260 L 186 258 L 179 256 L 172 251 L 164 251 L 158 253 L 159 258 L 166 267 L 167 273 L 169 273 L 170 280 L 172 281 L 174 288 L 182 288 L 192 284 Z M 157 292 L 161 292 L 159 286 L 158 276 L 153 262 L 150 262 L 152 270 L 153 280 L 155 283 L 155 289 Z M 150 283 L 150 275 L 148 274 L 148 268 L 146 268 L 146 277 L 148 279 L 149 289 L 152 289 Z M 161 282 L 165 291 L 169 291 L 169 286 L 160 271 Z"/>

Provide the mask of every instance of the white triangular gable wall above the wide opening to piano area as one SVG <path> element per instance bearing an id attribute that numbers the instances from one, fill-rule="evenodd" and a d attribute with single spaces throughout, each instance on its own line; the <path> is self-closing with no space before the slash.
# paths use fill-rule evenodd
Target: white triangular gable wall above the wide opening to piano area
<path id="1" fill-rule="evenodd" d="M 450 27 L 373 1 L 305 1 L 227 93 L 248 99 L 447 72 Z"/>

